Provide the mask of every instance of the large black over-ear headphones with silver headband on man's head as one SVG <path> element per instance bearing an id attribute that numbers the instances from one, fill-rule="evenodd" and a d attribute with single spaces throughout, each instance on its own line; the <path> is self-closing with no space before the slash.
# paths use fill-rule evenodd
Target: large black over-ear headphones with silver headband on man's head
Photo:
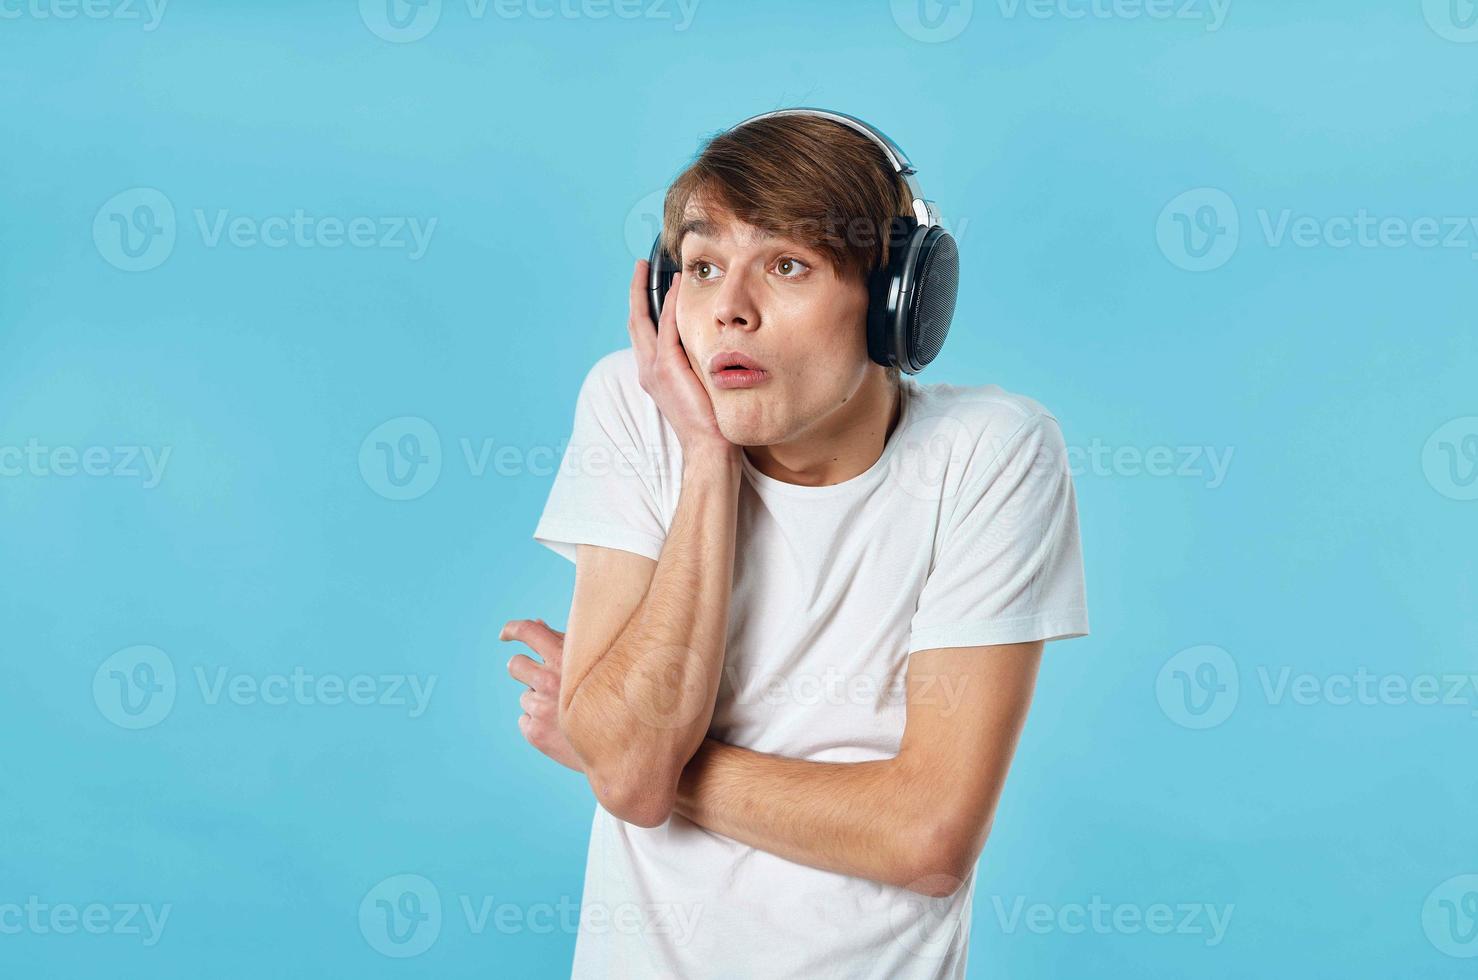
<path id="1" fill-rule="evenodd" d="M 903 179 L 913 201 L 912 216 L 896 216 L 888 228 L 888 262 L 868 278 L 868 356 L 881 365 L 897 365 L 918 374 L 933 361 L 955 315 L 959 290 L 959 248 L 955 237 L 939 225 L 933 201 L 924 200 L 918 171 L 899 145 L 854 115 L 831 109 L 777 109 L 751 115 L 733 129 L 774 115 L 816 115 L 853 129 L 882 149 L 893 171 Z M 662 316 L 662 300 L 678 272 L 677 262 L 662 248 L 662 235 L 652 242 L 647 297 L 652 322 Z"/>

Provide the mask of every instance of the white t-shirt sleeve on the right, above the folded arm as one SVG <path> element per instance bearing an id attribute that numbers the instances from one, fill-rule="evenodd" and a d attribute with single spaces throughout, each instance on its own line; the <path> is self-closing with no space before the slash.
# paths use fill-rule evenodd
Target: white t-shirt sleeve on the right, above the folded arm
<path id="1" fill-rule="evenodd" d="M 1088 634 L 1077 498 L 1057 420 L 1027 418 L 958 491 L 909 653 Z M 971 467 L 973 469 L 973 467 Z"/>

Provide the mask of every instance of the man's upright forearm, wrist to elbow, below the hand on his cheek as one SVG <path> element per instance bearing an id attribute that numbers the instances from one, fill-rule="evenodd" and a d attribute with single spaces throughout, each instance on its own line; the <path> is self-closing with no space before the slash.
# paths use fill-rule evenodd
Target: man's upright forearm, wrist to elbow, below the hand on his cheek
<path id="1" fill-rule="evenodd" d="M 740 470 L 736 457 L 684 460 L 672 526 L 646 596 L 576 678 L 560 724 L 593 785 L 644 800 L 665 819 L 677 777 L 708 732 L 724 662 Z M 597 795 L 602 794 L 602 786 Z"/>

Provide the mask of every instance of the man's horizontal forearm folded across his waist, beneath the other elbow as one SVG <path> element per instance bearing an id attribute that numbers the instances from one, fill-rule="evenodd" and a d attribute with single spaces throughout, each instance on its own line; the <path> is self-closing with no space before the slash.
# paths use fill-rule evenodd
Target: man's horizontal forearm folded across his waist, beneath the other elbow
<path id="1" fill-rule="evenodd" d="M 674 811 L 801 865 L 928 891 L 925 878 L 964 877 L 937 800 L 899 757 L 811 763 L 705 739 Z"/>

